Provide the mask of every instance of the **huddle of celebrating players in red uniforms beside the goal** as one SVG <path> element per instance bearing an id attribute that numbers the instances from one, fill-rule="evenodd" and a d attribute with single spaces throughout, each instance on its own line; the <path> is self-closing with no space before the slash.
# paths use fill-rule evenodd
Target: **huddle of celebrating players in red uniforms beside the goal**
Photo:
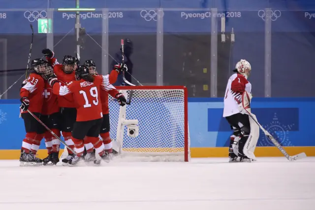
<path id="1" fill-rule="evenodd" d="M 119 105 L 126 105 L 126 98 L 112 84 L 118 74 L 127 71 L 126 64 L 117 64 L 107 75 L 98 75 L 95 62 L 87 60 L 79 66 L 76 57 L 64 56 L 57 62 L 50 49 L 43 49 L 46 57 L 32 60 L 32 72 L 21 86 L 21 116 L 26 137 L 22 142 L 20 166 L 56 165 L 59 162 L 60 140 L 47 131 L 30 113 L 37 116 L 58 137 L 63 136 L 68 156 L 63 165 L 79 161 L 93 161 L 95 152 L 109 161 L 113 152 L 109 136 L 108 94 Z M 99 138 L 101 137 L 101 138 Z M 48 150 L 43 160 L 36 157 L 42 139 Z"/>

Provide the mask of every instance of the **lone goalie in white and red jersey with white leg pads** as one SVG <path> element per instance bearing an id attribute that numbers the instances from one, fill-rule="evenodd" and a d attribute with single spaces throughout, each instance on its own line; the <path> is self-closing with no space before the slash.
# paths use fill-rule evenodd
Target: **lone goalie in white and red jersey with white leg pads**
<path id="1" fill-rule="evenodd" d="M 252 84 L 247 80 L 251 70 L 251 64 L 242 59 L 226 86 L 223 117 L 234 131 L 230 137 L 229 162 L 256 159 L 253 152 L 259 138 L 259 126 L 248 115 L 253 115 L 250 107 Z"/>

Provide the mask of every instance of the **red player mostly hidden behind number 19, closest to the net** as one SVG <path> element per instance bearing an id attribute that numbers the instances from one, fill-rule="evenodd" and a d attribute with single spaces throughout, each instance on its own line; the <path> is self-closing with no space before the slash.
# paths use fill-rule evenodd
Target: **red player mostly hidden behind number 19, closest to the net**
<path id="1" fill-rule="evenodd" d="M 95 62 L 93 60 L 85 61 L 84 65 L 86 65 L 89 68 L 89 72 L 91 75 L 97 75 L 98 74 L 96 71 Z M 118 77 L 119 72 L 126 71 L 126 70 L 127 70 L 126 65 L 123 65 L 123 64 L 115 65 L 114 70 L 112 70 L 110 72 L 110 74 L 108 75 L 109 83 L 110 84 L 115 83 L 117 81 L 117 77 Z M 119 94 L 118 91 L 113 93 L 111 96 L 115 97 L 117 94 Z M 112 140 L 110 139 L 110 136 L 109 136 L 110 122 L 109 122 L 109 108 L 108 108 L 108 92 L 105 90 L 101 90 L 100 98 L 101 98 L 101 103 L 102 103 L 103 122 L 102 122 L 102 126 L 100 129 L 99 135 L 103 140 L 105 151 L 108 154 L 110 154 L 113 152 L 113 144 L 112 144 Z M 86 144 L 85 146 L 86 146 L 88 153 L 93 150 L 93 145 Z M 93 153 L 90 153 L 90 154 L 93 154 Z M 88 159 L 88 157 L 86 157 L 86 158 Z"/>

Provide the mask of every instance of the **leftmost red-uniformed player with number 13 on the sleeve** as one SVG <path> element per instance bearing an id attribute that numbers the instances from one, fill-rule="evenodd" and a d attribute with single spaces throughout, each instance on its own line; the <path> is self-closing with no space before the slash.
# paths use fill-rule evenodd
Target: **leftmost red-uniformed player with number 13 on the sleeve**
<path id="1" fill-rule="evenodd" d="M 43 105 L 42 94 L 45 86 L 43 77 L 52 73 L 47 68 L 47 62 L 42 59 L 32 60 L 32 73 L 26 84 L 20 90 L 21 116 L 24 120 L 26 137 L 22 142 L 20 166 L 41 165 L 42 160 L 35 157 L 43 138 L 45 128 L 27 112 L 29 109 L 34 115 L 41 118 Z M 47 78 L 47 77 L 46 77 Z"/>

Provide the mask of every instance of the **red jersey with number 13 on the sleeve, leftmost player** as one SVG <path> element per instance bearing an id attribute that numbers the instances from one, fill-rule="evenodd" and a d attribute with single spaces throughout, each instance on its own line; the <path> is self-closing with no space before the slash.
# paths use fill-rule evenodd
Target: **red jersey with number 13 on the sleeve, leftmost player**
<path id="1" fill-rule="evenodd" d="M 28 97 L 30 100 L 29 110 L 32 112 L 41 113 L 43 105 L 42 93 L 44 89 L 45 81 L 37 73 L 31 73 L 29 75 L 27 83 L 21 88 L 20 96 Z M 26 113 L 23 111 L 22 113 Z"/>

